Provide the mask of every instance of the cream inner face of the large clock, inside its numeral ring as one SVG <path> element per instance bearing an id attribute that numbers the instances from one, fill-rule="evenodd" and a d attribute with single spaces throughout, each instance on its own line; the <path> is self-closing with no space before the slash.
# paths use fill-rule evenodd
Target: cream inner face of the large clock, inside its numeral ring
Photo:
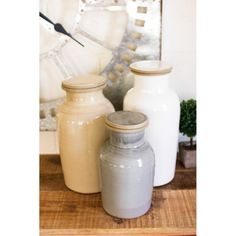
<path id="1" fill-rule="evenodd" d="M 62 80 L 75 75 L 99 74 L 111 61 L 112 50 L 122 40 L 128 17 L 122 6 L 108 10 L 109 6 L 91 8 L 79 0 L 40 1 L 44 15 L 61 23 L 85 45 L 81 47 L 40 19 L 40 101 L 64 96 Z"/>

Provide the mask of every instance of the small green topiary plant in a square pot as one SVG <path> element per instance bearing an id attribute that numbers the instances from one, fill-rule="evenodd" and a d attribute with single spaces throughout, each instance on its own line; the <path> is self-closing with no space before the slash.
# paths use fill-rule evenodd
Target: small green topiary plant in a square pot
<path id="1" fill-rule="evenodd" d="M 196 107 L 194 99 L 183 100 L 180 104 L 180 125 L 179 131 L 189 137 L 189 142 L 179 144 L 179 155 L 185 168 L 196 167 Z"/>

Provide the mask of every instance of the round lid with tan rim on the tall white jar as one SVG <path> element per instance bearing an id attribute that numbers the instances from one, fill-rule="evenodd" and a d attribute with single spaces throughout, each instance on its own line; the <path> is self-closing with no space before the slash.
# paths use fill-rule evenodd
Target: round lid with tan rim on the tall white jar
<path id="1" fill-rule="evenodd" d="M 138 75 L 164 75 L 172 70 L 171 65 L 158 60 L 137 61 L 130 64 L 129 68 Z"/>

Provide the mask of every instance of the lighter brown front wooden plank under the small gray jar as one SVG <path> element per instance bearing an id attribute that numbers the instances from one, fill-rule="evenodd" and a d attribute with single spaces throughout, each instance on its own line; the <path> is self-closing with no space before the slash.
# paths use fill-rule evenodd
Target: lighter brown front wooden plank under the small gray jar
<path id="1" fill-rule="evenodd" d="M 196 191 L 155 189 L 151 209 L 142 217 L 121 220 L 106 214 L 100 194 L 44 191 L 40 194 L 41 229 L 149 228 L 173 233 L 173 228 L 195 228 Z M 92 231 L 91 231 L 92 232 Z M 192 233 L 194 233 L 192 231 Z"/>

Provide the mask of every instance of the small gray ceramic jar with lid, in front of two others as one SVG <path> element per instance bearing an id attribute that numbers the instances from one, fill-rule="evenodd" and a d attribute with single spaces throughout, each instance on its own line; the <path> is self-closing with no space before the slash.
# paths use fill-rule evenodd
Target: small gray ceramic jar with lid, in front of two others
<path id="1" fill-rule="evenodd" d="M 118 111 L 106 118 L 110 138 L 100 154 L 102 204 L 119 218 L 136 218 L 151 205 L 154 182 L 154 152 L 144 138 L 147 116 Z"/>

